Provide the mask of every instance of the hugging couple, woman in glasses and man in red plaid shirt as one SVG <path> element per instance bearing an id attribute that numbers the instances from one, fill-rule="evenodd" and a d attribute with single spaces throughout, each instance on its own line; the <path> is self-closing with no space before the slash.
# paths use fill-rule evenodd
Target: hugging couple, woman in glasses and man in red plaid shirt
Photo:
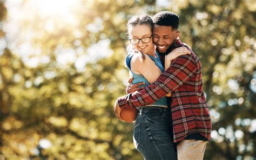
<path id="1" fill-rule="evenodd" d="M 179 16 L 169 11 L 127 23 L 132 78 L 114 112 L 123 120 L 122 110 L 137 108 L 133 143 L 144 159 L 203 159 L 211 140 L 201 63 L 179 40 L 178 26 Z"/>

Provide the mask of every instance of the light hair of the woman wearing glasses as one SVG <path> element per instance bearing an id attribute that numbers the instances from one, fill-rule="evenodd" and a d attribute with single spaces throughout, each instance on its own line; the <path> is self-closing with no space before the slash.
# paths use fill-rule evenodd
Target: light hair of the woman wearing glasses
<path id="1" fill-rule="evenodd" d="M 128 20 L 128 23 L 126 25 L 126 30 L 127 30 L 127 35 L 128 35 L 128 38 L 130 38 L 130 34 L 129 34 L 129 28 L 130 27 L 133 27 L 133 26 L 137 26 L 137 25 L 148 25 L 151 29 L 151 32 L 153 32 L 153 20 L 150 16 L 147 16 L 147 15 L 143 15 L 143 16 L 139 16 L 139 15 L 133 15 L 129 18 Z M 131 43 L 129 43 L 129 45 L 127 46 L 127 49 L 132 49 L 132 52 L 136 52 L 138 53 L 138 50 L 135 49 Z M 139 52 L 141 53 L 141 52 Z M 145 60 L 145 55 L 143 53 L 142 54 L 142 58 L 143 60 Z"/>

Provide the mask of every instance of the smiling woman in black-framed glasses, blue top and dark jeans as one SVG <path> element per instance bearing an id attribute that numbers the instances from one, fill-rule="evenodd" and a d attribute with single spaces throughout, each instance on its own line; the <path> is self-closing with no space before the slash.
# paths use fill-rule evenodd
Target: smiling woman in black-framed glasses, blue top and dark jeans
<path id="1" fill-rule="evenodd" d="M 153 44 L 152 29 L 153 21 L 149 16 L 133 16 L 127 23 L 132 50 L 126 57 L 126 66 L 133 76 L 132 83 L 145 82 L 148 85 L 164 71 Z M 166 56 L 166 69 L 170 66 L 170 60 L 179 55 L 174 51 Z M 139 107 L 138 110 L 133 133 L 136 149 L 144 159 L 177 159 L 167 98 Z"/>

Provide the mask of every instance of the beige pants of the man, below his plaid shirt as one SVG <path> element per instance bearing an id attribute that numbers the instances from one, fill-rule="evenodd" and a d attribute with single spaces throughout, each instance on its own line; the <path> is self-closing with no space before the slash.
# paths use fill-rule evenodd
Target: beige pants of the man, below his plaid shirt
<path id="1" fill-rule="evenodd" d="M 204 158 L 207 141 L 183 140 L 177 145 L 178 160 Z"/>

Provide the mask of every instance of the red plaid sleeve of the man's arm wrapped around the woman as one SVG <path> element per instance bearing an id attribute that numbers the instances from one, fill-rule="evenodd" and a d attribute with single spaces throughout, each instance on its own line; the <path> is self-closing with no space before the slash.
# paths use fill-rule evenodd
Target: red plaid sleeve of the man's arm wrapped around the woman
<path id="1" fill-rule="evenodd" d="M 177 89 L 180 85 L 183 85 L 197 70 L 197 62 L 191 55 L 179 56 L 158 77 L 156 82 L 145 86 L 140 91 L 118 98 L 118 104 L 122 109 L 152 104 L 167 93 Z"/>

